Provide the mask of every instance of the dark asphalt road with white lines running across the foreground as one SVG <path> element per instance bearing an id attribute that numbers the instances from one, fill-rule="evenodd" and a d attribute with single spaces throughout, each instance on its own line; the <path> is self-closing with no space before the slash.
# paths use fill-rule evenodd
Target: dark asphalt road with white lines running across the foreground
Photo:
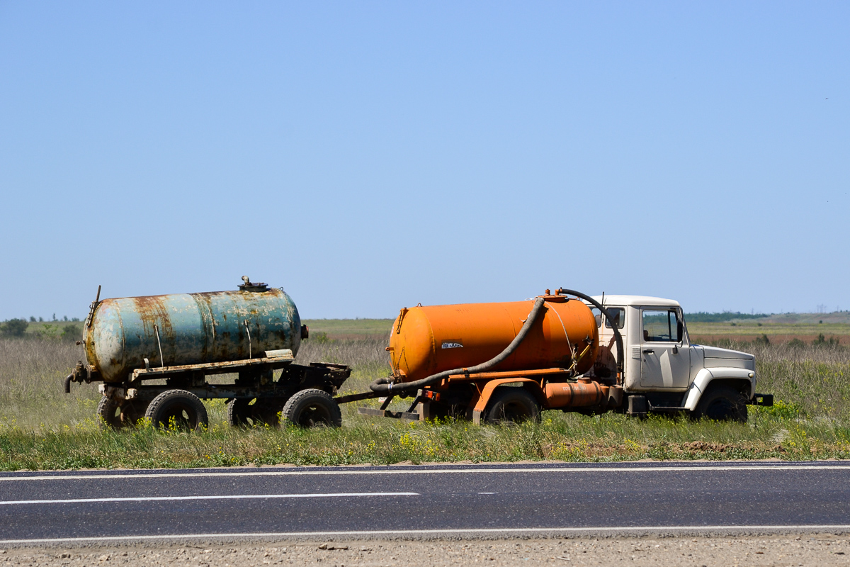
<path id="1" fill-rule="evenodd" d="M 850 531 L 850 463 L 0 473 L 0 545 Z"/>

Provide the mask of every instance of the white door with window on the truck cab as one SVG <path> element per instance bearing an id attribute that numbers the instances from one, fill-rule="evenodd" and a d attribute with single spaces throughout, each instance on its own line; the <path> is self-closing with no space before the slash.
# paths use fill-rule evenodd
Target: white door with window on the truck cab
<path id="1" fill-rule="evenodd" d="M 641 388 L 688 388 L 690 349 L 677 308 L 641 309 Z"/>

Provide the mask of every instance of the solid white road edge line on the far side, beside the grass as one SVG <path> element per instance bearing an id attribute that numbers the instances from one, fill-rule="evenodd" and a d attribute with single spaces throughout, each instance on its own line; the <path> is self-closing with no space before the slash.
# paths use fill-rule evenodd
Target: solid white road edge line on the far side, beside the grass
<path id="1" fill-rule="evenodd" d="M 195 469 L 197 470 L 197 469 Z M 9 480 L 94 480 L 94 479 L 171 479 L 201 477 L 243 477 L 243 476 L 306 476 L 306 475 L 386 475 L 386 474 L 473 474 L 473 473 L 669 473 L 700 471 L 827 471 L 844 470 L 850 472 L 848 465 L 709 465 L 706 467 L 558 467 L 558 468 L 439 468 L 439 469 L 380 469 L 380 470 L 287 470 L 287 471 L 209 471 L 181 473 L 129 473 L 129 474 L 68 474 L 68 475 L 28 475 L 0 476 L 0 482 Z"/>

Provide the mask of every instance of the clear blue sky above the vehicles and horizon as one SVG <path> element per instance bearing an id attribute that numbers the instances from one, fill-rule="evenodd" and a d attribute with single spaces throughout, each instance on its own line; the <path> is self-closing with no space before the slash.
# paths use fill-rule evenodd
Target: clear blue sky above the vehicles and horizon
<path id="1" fill-rule="evenodd" d="M 0 1 L 0 319 L 850 309 L 850 3 Z"/>

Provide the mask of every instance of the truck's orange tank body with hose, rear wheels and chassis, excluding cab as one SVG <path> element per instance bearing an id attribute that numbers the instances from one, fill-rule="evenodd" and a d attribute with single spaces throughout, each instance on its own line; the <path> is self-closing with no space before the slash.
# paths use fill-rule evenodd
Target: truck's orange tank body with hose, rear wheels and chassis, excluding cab
<path id="1" fill-rule="evenodd" d="M 613 344 L 600 347 L 588 304 L 566 293 L 609 316 L 595 300 L 571 290 L 546 290 L 513 303 L 401 309 L 387 347 L 393 374 L 371 384 L 372 395 L 386 398 L 380 409 L 359 412 L 498 423 L 536 420 L 541 409 L 595 412 L 621 405 L 619 332 L 615 328 L 615 358 Z M 414 397 L 407 411 L 387 410 L 396 395 Z"/>

